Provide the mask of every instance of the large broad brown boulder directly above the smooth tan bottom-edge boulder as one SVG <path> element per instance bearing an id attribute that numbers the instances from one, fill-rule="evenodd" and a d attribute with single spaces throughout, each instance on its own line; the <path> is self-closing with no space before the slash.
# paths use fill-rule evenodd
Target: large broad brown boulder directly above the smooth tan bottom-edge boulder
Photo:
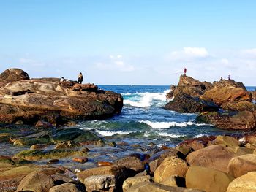
<path id="1" fill-rule="evenodd" d="M 186 159 L 190 166 L 204 166 L 228 172 L 228 163 L 234 157 L 236 157 L 236 153 L 227 150 L 226 147 L 211 145 L 189 153 Z"/>

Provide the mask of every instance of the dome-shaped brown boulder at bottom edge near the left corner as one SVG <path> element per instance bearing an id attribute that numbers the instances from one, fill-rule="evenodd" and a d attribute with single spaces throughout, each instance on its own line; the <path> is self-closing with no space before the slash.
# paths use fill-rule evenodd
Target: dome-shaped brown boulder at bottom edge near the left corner
<path id="1" fill-rule="evenodd" d="M 21 180 L 17 191 L 42 191 L 48 192 L 54 186 L 54 180 L 50 175 L 42 172 L 31 172 Z"/>

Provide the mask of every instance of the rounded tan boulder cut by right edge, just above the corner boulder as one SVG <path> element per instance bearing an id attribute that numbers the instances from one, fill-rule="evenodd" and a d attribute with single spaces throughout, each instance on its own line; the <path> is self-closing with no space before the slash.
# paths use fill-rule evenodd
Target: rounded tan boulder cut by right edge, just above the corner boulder
<path id="1" fill-rule="evenodd" d="M 230 175 L 236 178 L 248 172 L 256 172 L 256 155 L 241 155 L 230 160 L 228 164 Z"/>

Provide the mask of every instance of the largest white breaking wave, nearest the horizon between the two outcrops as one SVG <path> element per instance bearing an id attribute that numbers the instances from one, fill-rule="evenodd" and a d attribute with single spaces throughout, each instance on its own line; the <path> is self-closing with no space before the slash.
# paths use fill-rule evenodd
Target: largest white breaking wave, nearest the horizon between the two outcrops
<path id="1" fill-rule="evenodd" d="M 166 90 L 162 93 L 135 93 L 135 98 L 124 99 L 124 104 L 129 104 L 132 107 L 151 107 L 153 101 L 166 101 L 166 93 L 170 90 Z M 127 95 L 125 93 L 124 95 Z"/>

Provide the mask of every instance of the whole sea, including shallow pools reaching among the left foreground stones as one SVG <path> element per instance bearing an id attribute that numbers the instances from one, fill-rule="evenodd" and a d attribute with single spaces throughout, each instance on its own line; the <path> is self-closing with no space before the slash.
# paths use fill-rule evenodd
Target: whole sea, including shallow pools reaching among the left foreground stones
<path id="1" fill-rule="evenodd" d="M 105 120 L 80 121 L 74 128 L 93 131 L 105 141 L 103 147 L 89 146 L 89 162 L 76 164 L 71 158 L 61 159 L 59 164 L 70 169 L 89 169 L 97 161 L 116 161 L 131 153 L 153 153 L 157 147 L 175 147 L 185 139 L 195 137 L 235 134 L 215 128 L 211 124 L 195 123 L 197 114 L 178 113 L 165 110 L 165 85 L 98 85 L 103 90 L 121 93 L 124 107 L 120 114 Z M 256 87 L 246 87 L 255 91 Z M 1 145 L 0 155 L 14 155 L 26 147 Z M 45 164 L 48 160 L 37 162 Z"/>

